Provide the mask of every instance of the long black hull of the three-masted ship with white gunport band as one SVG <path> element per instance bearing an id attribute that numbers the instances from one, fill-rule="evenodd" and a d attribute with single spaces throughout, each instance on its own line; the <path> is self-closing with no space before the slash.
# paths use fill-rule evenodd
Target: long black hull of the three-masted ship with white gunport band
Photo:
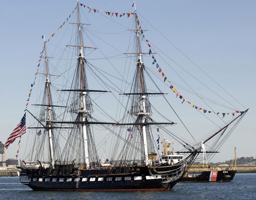
<path id="1" fill-rule="evenodd" d="M 185 164 L 179 164 L 138 167 L 138 172 L 134 173 L 107 174 L 106 170 L 84 170 L 72 175 L 42 175 L 36 170 L 27 170 L 21 173 L 20 182 L 41 191 L 164 191 L 172 190 L 185 168 Z"/>

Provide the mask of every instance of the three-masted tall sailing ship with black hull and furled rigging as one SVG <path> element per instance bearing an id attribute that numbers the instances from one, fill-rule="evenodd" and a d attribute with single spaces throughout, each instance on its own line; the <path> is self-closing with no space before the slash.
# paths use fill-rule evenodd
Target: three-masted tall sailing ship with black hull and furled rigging
<path id="1" fill-rule="evenodd" d="M 135 4 L 133 6 L 135 9 Z M 171 190 L 196 156 L 201 153 L 202 145 L 215 135 L 223 134 L 230 124 L 240 121 L 247 110 L 239 113 L 239 116 L 220 130 L 202 140 L 202 143 L 188 144 L 180 140 L 180 144 L 186 151 L 176 154 L 172 152 L 172 156 L 179 155 L 180 159 L 175 162 L 169 162 L 167 159 L 166 162 L 163 156 L 171 156 L 171 154 L 169 155 L 165 149 L 164 155 L 159 157 L 159 136 L 156 143 L 153 132 L 160 129 L 172 135 L 168 127 L 176 123 L 166 118 L 165 122 L 157 122 L 153 119 L 152 104 L 149 99 L 152 96 L 164 96 L 165 93 L 154 83 L 144 64 L 143 55 L 151 52 L 142 51 L 141 41 L 144 37 L 141 33 L 143 30 L 138 27 L 136 9 L 133 13 L 134 29 L 130 30 L 135 33 L 134 52 L 125 54 L 132 55 L 134 58 L 135 70 L 132 82 L 126 82 L 131 86 L 130 89 L 127 89 L 128 86 L 125 90 L 118 89 L 121 91 L 119 95 L 125 96 L 127 101 L 122 103 L 118 100 L 120 106 L 112 108 L 124 111 L 120 119 L 114 120 L 110 117 L 110 113 L 99 109 L 96 98 L 92 98 L 93 95 L 102 98 L 110 91 L 92 89 L 99 84 L 90 82 L 91 75 L 99 78 L 97 73 L 101 71 L 87 60 L 88 56 L 85 57 L 85 50 L 94 50 L 96 47 L 84 45 L 83 35 L 86 33 L 86 28 L 83 26 L 88 24 L 83 24 L 81 21 L 81 7 L 82 4 L 77 2 L 76 22 L 71 23 L 77 31 L 73 34 L 76 39 L 70 40 L 75 41 L 75 44 L 67 45 L 67 48 L 73 50 L 72 56 L 76 58 L 74 72 L 70 71 L 73 68 L 70 67 L 70 63 L 70 66 L 66 64 L 66 71 L 61 76 L 55 74 L 60 71 L 60 67 L 53 70 L 51 66 L 52 71 L 50 71 L 51 57 L 47 55 L 47 41 L 44 42 L 42 56 L 44 69 L 37 72 L 44 77 L 42 80 L 44 90 L 37 99 L 40 102 L 33 104 L 34 107 L 40 108 L 36 111 L 37 116 L 31 113 L 30 109 L 26 111 L 27 115 L 35 119 L 35 122 L 28 126 L 28 130 L 33 132 L 34 139 L 31 140 L 33 145 L 28 156 L 23 159 L 20 182 L 33 190 L 50 191 Z M 65 75 L 69 78 L 63 79 L 66 80 L 66 83 L 63 81 L 63 86 L 52 84 L 50 78 L 55 81 Z M 70 75 L 72 75 L 71 78 Z M 146 84 L 148 80 L 158 91 L 152 90 L 152 87 L 148 90 L 148 83 Z M 107 87 L 111 85 L 111 80 L 104 80 L 102 83 Z M 111 88 L 117 90 L 118 86 L 114 88 L 112 85 Z M 59 93 L 56 94 L 56 91 Z M 102 102 L 104 98 L 106 97 L 102 98 Z M 97 111 L 94 111 L 93 105 L 98 108 Z M 155 112 L 159 113 L 158 110 Z M 101 117 L 103 115 L 109 116 L 108 118 L 112 121 L 103 121 Z M 110 152 L 109 160 L 106 157 L 102 159 L 98 154 L 99 147 L 96 145 L 95 138 L 102 137 L 102 135 L 96 135 L 99 130 L 108 132 L 106 138 L 112 137 L 111 144 L 100 147 L 107 148 Z M 181 156 L 181 153 L 187 153 L 187 155 Z"/>

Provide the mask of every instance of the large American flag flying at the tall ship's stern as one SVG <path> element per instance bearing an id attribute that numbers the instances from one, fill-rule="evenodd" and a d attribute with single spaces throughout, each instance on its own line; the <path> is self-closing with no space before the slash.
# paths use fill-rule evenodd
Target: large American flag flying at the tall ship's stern
<path id="1" fill-rule="evenodd" d="M 18 138 L 21 135 L 23 135 L 24 133 L 26 133 L 25 128 L 26 128 L 26 113 L 24 114 L 24 116 L 20 120 L 20 123 L 15 127 L 15 129 L 10 134 L 9 138 L 5 142 L 4 147 L 7 149 L 9 147 L 9 145 L 12 144 L 12 142 L 14 142 L 14 140 L 16 138 Z"/>

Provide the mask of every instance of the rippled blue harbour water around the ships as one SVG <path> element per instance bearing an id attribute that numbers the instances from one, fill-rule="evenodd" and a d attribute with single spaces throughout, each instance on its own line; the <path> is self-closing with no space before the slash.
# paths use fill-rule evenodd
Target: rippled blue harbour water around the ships
<path id="1" fill-rule="evenodd" d="M 237 173 L 231 182 L 177 183 L 164 192 L 47 192 L 33 191 L 19 177 L 0 177 L 0 200 L 256 200 L 256 173 Z"/>

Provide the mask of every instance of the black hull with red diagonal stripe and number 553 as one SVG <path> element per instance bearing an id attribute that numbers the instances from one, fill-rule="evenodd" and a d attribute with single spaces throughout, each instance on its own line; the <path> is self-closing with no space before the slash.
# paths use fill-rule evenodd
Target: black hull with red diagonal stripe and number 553
<path id="1" fill-rule="evenodd" d="M 235 174 L 236 170 L 204 171 L 199 175 L 182 177 L 180 182 L 228 182 Z"/>

